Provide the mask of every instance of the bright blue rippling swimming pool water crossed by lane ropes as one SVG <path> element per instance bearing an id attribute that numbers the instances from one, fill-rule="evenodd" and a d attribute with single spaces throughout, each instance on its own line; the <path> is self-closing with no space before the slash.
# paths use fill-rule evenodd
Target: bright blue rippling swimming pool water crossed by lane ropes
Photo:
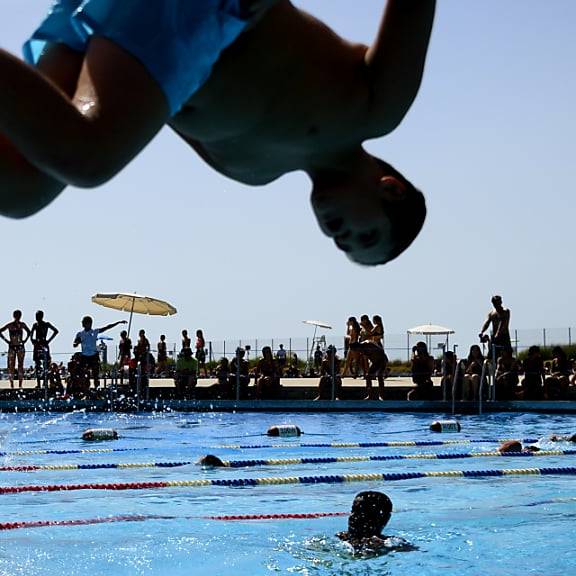
<path id="1" fill-rule="evenodd" d="M 438 415 L 440 416 L 440 415 Z M 114 519 L 76 526 L 0 532 L 0 575 L 90 574 L 569 574 L 576 571 L 574 476 L 426 477 L 366 481 L 374 472 L 569 467 L 574 455 L 530 458 L 368 460 L 368 456 L 477 453 L 495 442 L 434 446 L 314 447 L 309 444 L 538 438 L 574 432 L 561 415 L 491 414 L 460 419 L 459 434 L 427 430 L 423 414 L 86 414 L 0 415 L 2 467 L 64 464 L 194 462 L 359 456 L 360 461 L 202 470 L 174 467 L 53 469 L 0 472 L 0 487 L 137 483 L 142 489 L 82 489 L 0 494 L 0 522 Z M 262 434 L 294 423 L 300 439 Z M 114 442 L 80 440 L 89 427 L 114 427 Z M 302 446 L 306 444 L 306 446 Z M 232 448 L 230 446 L 263 446 Z M 222 448 L 222 446 L 228 446 Z M 569 450 L 567 445 L 543 445 Z M 114 452 L 48 454 L 51 450 Z M 125 450 L 125 451 L 122 451 Z M 23 452 L 29 452 L 23 454 Z M 252 478 L 354 476 L 354 482 L 263 483 L 255 486 L 169 486 L 145 483 Z M 157 485 L 156 485 L 157 486 Z M 354 558 L 334 537 L 345 516 L 214 520 L 209 516 L 348 512 L 361 490 L 382 490 L 394 503 L 387 534 L 417 547 L 377 558 Z M 117 518 L 122 516 L 124 518 Z M 131 520 L 131 521 L 127 521 Z M 134 521 L 139 520 L 139 521 Z"/>

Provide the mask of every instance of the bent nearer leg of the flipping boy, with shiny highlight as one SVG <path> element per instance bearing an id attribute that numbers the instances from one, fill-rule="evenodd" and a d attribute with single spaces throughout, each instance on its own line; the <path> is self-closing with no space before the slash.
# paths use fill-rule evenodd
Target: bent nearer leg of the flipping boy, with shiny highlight
<path id="1" fill-rule="evenodd" d="M 0 50 L 0 133 L 62 187 L 106 182 L 168 118 L 159 85 L 140 62 L 105 38 L 90 41 L 72 99 Z"/>

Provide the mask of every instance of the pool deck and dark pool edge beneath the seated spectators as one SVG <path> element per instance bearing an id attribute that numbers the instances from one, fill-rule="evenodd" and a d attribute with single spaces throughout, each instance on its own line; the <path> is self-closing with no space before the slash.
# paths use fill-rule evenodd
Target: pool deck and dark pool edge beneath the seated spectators
<path id="1" fill-rule="evenodd" d="M 147 395 L 126 397 L 122 389 L 94 391 L 93 398 L 85 400 L 45 397 L 45 391 L 36 388 L 36 382 L 25 380 L 23 388 L 10 389 L 7 380 L 0 380 L 0 412 L 430 412 L 452 414 L 452 402 L 441 400 L 440 379 L 434 378 L 433 401 L 407 401 L 406 395 L 414 388 L 409 377 L 386 379 L 385 400 L 364 400 L 366 385 L 362 379 L 344 378 L 341 399 L 314 400 L 318 378 L 283 378 L 282 398 L 278 400 L 222 400 L 217 396 L 214 378 L 200 378 L 194 389 L 194 398 L 176 399 L 174 382 L 158 378 L 150 381 Z M 104 382 L 104 381 L 103 381 Z M 374 383 L 376 386 L 376 383 Z M 249 389 L 252 389 L 250 386 Z M 478 402 L 456 402 L 457 414 L 477 414 Z M 483 412 L 535 412 L 547 414 L 576 414 L 576 397 L 563 401 L 507 401 L 483 402 Z"/>

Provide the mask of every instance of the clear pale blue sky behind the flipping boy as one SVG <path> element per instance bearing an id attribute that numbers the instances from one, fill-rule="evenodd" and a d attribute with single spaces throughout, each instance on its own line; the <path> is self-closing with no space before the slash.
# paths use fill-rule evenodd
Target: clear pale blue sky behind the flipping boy
<path id="1" fill-rule="evenodd" d="M 48 0 L 3 0 L 0 45 L 19 51 Z M 384 2 L 296 2 L 370 43 Z M 310 185 L 291 174 L 250 188 L 215 173 L 164 130 L 113 181 L 68 189 L 24 221 L 1 219 L 0 321 L 36 309 L 59 350 L 99 291 L 137 291 L 179 310 L 140 317 L 151 340 L 182 328 L 209 339 L 306 336 L 305 318 L 339 330 L 381 314 L 403 333 L 435 322 L 475 339 L 500 293 L 515 328 L 574 326 L 576 2 L 440 0 L 419 96 L 402 125 L 367 148 L 425 193 L 413 246 L 375 269 L 350 263 L 319 231 Z"/>

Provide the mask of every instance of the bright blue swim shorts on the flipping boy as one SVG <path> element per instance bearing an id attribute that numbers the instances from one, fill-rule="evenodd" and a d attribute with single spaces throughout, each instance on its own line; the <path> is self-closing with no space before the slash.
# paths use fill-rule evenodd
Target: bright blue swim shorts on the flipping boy
<path id="1" fill-rule="evenodd" d="M 103 36 L 142 62 L 173 115 L 246 25 L 239 0 L 56 0 L 24 57 L 36 64 L 51 42 L 83 52 L 91 36 Z"/>

